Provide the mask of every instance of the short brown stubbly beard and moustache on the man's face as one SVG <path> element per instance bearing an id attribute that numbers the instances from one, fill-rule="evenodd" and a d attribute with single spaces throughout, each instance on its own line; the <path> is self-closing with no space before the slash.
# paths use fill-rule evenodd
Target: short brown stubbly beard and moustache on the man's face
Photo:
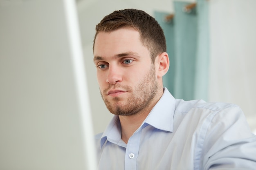
<path id="1" fill-rule="evenodd" d="M 158 84 L 155 77 L 155 68 L 153 67 L 148 71 L 146 76 L 135 88 L 132 89 L 130 86 L 121 86 L 121 85 L 110 85 L 108 89 L 112 86 L 115 88 L 126 89 L 131 93 L 130 97 L 127 99 L 126 103 L 120 104 L 121 98 L 115 97 L 112 102 L 104 98 L 102 93 L 101 97 L 103 98 L 108 110 L 114 115 L 129 116 L 139 113 L 141 110 L 148 108 L 150 102 L 154 99 L 157 94 Z M 108 91 L 106 89 L 104 92 Z M 106 94 L 106 93 L 103 93 Z"/>

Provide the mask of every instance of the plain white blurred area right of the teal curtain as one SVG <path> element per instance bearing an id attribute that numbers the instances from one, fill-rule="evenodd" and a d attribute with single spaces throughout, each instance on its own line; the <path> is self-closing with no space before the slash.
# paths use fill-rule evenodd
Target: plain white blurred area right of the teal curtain
<path id="1" fill-rule="evenodd" d="M 238 104 L 256 133 L 256 1 L 209 4 L 209 100 Z"/>

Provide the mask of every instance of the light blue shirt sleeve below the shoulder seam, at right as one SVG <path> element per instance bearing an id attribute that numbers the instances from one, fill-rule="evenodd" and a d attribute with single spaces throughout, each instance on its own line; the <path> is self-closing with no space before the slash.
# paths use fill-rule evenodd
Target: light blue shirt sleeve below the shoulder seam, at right
<path id="1" fill-rule="evenodd" d="M 201 166 L 203 170 L 256 169 L 256 136 L 238 106 L 218 110 L 212 117 L 203 142 Z"/>

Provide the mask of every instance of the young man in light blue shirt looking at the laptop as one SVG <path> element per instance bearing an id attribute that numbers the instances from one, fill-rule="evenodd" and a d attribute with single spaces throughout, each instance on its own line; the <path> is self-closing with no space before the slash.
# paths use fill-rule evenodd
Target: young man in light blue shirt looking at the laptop
<path id="1" fill-rule="evenodd" d="M 115 115 L 96 136 L 99 169 L 256 169 L 256 137 L 238 106 L 186 102 L 163 88 L 166 42 L 150 15 L 107 15 L 93 49 L 101 95 Z"/>

